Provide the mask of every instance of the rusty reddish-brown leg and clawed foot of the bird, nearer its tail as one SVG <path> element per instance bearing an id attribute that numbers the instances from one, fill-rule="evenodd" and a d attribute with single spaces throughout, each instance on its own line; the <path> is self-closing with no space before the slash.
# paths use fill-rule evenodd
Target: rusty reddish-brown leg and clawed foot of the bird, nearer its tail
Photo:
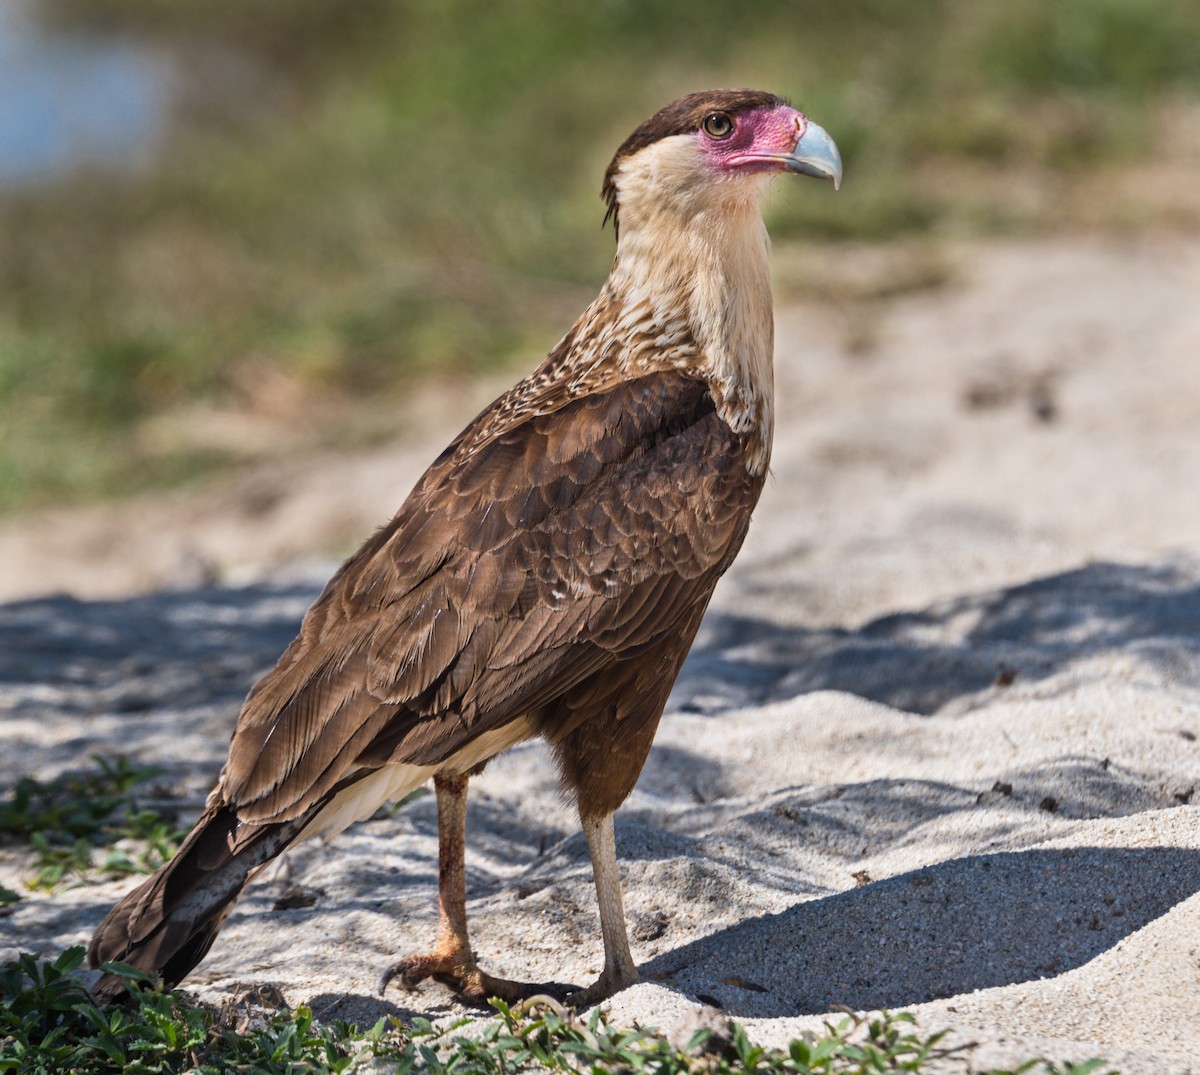
<path id="1" fill-rule="evenodd" d="M 433 951 L 397 960 L 379 979 L 379 992 L 398 978 L 413 989 L 426 978 L 450 986 L 464 1001 L 486 1004 L 490 997 L 518 1001 L 542 986 L 493 978 L 475 963 L 467 935 L 467 776 L 433 777 L 438 797 L 438 939 Z"/>

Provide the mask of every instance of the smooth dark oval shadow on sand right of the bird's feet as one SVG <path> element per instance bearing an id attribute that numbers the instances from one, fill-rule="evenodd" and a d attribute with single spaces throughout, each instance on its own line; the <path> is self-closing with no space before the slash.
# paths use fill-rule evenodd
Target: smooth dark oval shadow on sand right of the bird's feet
<path id="1" fill-rule="evenodd" d="M 908 1008 L 1052 978 L 1200 891 L 1200 852 L 1021 851 L 952 859 L 797 903 L 642 969 L 731 1015 Z"/>

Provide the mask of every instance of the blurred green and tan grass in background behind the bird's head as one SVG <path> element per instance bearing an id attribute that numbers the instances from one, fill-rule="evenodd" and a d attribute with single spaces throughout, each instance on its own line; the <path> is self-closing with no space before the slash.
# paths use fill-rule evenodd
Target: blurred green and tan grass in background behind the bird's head
<path id="1" fill-rule="evenodd" d="M 607 271 L 612 151 L 694 89 L 781 92 L 841 146 L 838 197 L 772 200 L 776 250 L 1200 226 L 1170 179 L 1195 0 L 37 10 L 182 89 L 149 164 L 0 191 L 0 511 L 384 437 L 414 385 L 528 368 Z"/>

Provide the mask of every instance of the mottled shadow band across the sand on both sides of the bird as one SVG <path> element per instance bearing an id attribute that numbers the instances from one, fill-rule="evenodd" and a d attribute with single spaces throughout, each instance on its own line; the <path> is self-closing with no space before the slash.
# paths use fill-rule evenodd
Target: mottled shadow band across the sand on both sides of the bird
<path id="1" fill-rule="evenodd" d="M 59 691 L 56 708 L 77 713 L 197 697 L 236 704 L 295 635 L 319 582 L 0 606 L 0 701 L 10 713 L 44 709 L 49 689 Z M 672 707 L 707 709 L 694 701 L 706 696 L 738 705 L 839 690 L 930 714 L 997 677 L 1045 679 L 1118 650 L 1200 687 L 1198 639 L 1200 564 L 1190 560 L 1088 564 L 854 629 L 787 627 L 714 609 Z"/>

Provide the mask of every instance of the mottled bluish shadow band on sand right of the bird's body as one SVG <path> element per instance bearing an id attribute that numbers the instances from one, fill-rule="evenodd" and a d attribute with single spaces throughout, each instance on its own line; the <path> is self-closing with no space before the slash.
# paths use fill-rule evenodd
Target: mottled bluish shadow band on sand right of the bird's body
<path id="1" fill-rule="evenodd" d="M 1122 651 L 1200 687 L 1200 564 L 1097 563 L 852 630 L 706 618 L 672 696 L 709 711 L 838 690 L 931 714 L 998 683 Z"/>

